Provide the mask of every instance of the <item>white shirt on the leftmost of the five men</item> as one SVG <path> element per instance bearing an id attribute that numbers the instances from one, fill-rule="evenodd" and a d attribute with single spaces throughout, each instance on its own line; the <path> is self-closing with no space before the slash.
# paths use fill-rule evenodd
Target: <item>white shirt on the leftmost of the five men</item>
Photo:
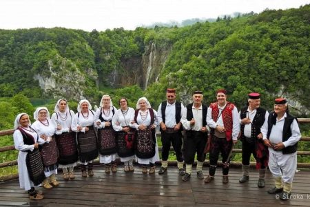
<path id="1" fill-rule="evenodd" d="M 183 117 L 185 114 L 185 107 L 183 106 L 183 103 L 181 104 L 181 112 L 180 112 L 180 117 Z M 158 111 L 157 111 L 157 119 L 158 123 L 161 124 L 163 122 L 163 115 L 161 114 L 161 105 L 162 103 L 158 106 Z M 165 125 L 167 128 L 174 128 L 176 126 L 176 101 L 174 103 L 170 104 L 167 101 L 167 106 L 165 110 Z"/>

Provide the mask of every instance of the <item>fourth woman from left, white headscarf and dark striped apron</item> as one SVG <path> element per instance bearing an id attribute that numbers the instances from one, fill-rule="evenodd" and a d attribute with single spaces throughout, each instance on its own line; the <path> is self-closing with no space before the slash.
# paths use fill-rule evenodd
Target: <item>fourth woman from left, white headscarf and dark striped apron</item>
<path id="1" fill-rule="evenodd" d="M 94 111 L 90 102 L 83 99 L 77 107 L 78 112 L 72 121 L 72 131 L 77 132 L 76 140 L 79 150 L 79 161 L 81 164 L 82 177 L 94 176 L 92 171 L 93 161 L 98 157 L 96 132 L 94 130 Z"/>

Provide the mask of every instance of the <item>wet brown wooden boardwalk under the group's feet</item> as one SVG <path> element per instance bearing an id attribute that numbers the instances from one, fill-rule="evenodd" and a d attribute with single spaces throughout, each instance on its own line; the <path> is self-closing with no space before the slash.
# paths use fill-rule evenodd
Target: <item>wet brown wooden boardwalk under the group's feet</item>
<path id="1" fill-rule="evenodd" d="M 296 172 L 293 193 L 289 201 L 276 199 L 267 194 L 273 187 L 270 172 L 266 187 L 257 188 L 258 172 L 251 169 L 250 181 L 239 184 L 241 169 L 231 168 L 229 184 L 222 183 L 221 169 L 211 184 L 204 184 L 196 177 L 193 169 L 190 181 L 182 181 L 176 167 L 169 167 L 168 173 L 143 175 L 136 167 L 134 173 L 118 172 L 106 175 L 102 166 L 94 168 L 94 177 L 81 177 L 76 169 L 74 181 L 64 181 L 58 175 L 61 185 L 52 190 L 42 190 L 45 198 L 30 201 L 28 194 L 19 188 L 19 180 L 0 183 L 0 206 L 310 206 L 310 170 Z M 207 167 L 203 168 L 207 175 Z"/>

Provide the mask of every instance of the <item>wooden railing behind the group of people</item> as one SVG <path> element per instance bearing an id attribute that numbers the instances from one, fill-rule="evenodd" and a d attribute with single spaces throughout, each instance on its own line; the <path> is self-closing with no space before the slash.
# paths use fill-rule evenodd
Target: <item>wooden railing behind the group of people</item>
<path id="1" fill-rule="evenodd" d="M 300 124 L 307 124 L 310 123 L 310 118 L 298 118 L 298 122 Z M 10 129 L 10 130 L 2 130 L 0 131 L 0 137 L 2 136 L 6 136 L 6 135 L 12 135 L 14 133 L 14 129 Z M 310 141 L 310 137 L 301 137 L 300 141 Z M 9 150 L 14 150 L 14 146 L 3 146 L 0 147 L 0 152 L 6 152 Z M 161 150 L 161 147 L 158 148 L 159 150 Z M 173 148 L 171 148 L 173 150 Z M 241 153 L 242 149 L 234 149 L 233 150 L 234 153 Z M 297 155 L 310 155 L 310 151 L 298 151 Z M 176 161 L 169 161 L 169 164 L 176 164 Z M 205 164 L 209 164 L 209 161 L 205 161 Z M 10 167 L 10 166 L 15 166 L 17 165 L 17 160 L 14 161 L 6 161 L 3 163 L 0 163 L 0 168 L 5 168 L 5 167 Z M 218 165 L 220 166 L 220 162 L 218 163 Z M 231 166 L 235 166 L 235 167 L 240 167 L 242 164 L 240 161 L 231 161 Z M 254 162 L 251 162 L 251 166 L 255 166 Z M 298 163 L 297 164 L 298 168 L 310 168 L 310 163 Z M 9 179 L 15 179 L 18 177 L 18 174 L 14 174 L 14 175 L 6 175 L 6 176 L 2 176 L 0 177 L 0 181 L 6 181 Z"/>

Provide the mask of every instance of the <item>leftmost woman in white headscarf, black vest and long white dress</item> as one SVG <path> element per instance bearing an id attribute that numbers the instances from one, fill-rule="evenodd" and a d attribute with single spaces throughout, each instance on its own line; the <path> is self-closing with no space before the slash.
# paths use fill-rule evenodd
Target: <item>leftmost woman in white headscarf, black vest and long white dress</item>
<path id="1" fill-rule="evenodd" d="M 34 189 L 45 179 L 43 160 L 39 152 L 39 143 L 44 140 L 30 127 L 26 113 L 17 115 L 14 121 L 14 146 L 19 150 L 18 170 L 19 186 L 28 190 L 30 199 L 43 199 L 42 193 Z"/>

